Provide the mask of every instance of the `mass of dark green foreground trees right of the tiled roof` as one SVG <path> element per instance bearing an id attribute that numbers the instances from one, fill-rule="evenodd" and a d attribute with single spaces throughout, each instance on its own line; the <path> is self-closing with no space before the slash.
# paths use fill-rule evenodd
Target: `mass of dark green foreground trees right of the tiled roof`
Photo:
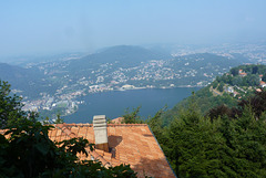
<path id="1" fill-rule="evenodd" d="M 180 109 L 164 128 L 167 142 L 162 143 L 177 177 L 265 177 L 265 97 L 263 91 L 236 107 L 214 107 L 205 116 L 195 97 Z"/>

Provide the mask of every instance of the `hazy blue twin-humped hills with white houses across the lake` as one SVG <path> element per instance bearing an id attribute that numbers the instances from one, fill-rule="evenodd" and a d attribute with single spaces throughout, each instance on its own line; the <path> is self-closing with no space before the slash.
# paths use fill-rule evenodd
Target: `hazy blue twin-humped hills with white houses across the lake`
<path id="1" fill-rule="evenodd" d="M 119 83 L 117 87 L 125 84 L 137 87 L 204 86 L 244 62 L 211 53 L 170 57 L 139 46 L 114 46 L 42 69 L 50 76 L 62 78 L 60 82 L 64 85 L 69 85 L 70 80 L 83 78 L 91 85 L 109 86 L 113 81 Z"/>

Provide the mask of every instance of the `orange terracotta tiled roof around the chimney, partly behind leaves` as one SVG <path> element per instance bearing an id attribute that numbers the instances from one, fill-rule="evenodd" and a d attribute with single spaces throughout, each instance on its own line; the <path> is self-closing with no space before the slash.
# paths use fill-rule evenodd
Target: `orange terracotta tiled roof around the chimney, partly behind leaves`
<path id="1" fill-rule="evenodd" d="M 88 148 L 89 157 L 79 155 L 80 159 L 98 159 L 105 167 L 130 164 L 137 177 L 144 177 L 143 174 L 151 177 L 175 177 L 146 124 L 108 124 L 106 129 L 110 151 L 90 151 Z M 57 142 L 83 137 L 95 143 L 92 124 L 57 124 L 49 132 L 49 137 Z"/>

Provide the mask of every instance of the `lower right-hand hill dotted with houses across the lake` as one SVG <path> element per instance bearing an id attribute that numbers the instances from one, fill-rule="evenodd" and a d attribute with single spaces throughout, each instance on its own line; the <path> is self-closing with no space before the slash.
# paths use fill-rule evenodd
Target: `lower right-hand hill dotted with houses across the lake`
<path id="1" fill-rule="evenodd" d="M 196 53 L 175 56 L 168 60 L 165 67 L 172 69 L 178 80 L 174 80 L 176 86 L 205 86 L 213 80 L 228 72 L 231 67 L 249 62 L 238 57 L 221 56 L 212 53 Z"/>

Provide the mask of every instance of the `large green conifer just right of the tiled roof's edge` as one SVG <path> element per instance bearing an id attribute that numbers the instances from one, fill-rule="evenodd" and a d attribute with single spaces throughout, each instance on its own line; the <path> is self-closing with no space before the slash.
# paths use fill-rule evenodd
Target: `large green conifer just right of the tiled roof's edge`
<path id="1" fill-rule="evenodd" d="M 177 177 L 225 177 L 223 164 L 225 139 L 215 123 L 193 107 L 171 124 L 167 157 Z"/>

